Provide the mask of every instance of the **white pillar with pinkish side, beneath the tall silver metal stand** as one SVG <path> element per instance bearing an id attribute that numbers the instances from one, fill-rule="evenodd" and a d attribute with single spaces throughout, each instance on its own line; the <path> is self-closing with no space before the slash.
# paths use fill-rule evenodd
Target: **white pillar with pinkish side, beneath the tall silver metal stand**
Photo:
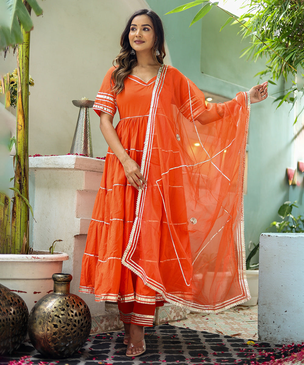
<path id="1" fill-rule="evenodd" d="M 78 292 L 81 260 L 100 187 L 104 161 L 96 158 L 63 155 L 30 157 L 31 204 L 34 208 L 32 239 L 34 250 L 48 250 L 55 239 L 55 251 L 65 252 L 62 272 L 72 274 L 70 292 L 80 296 L 91 314 L 104 314 L 104 302 Z"/>

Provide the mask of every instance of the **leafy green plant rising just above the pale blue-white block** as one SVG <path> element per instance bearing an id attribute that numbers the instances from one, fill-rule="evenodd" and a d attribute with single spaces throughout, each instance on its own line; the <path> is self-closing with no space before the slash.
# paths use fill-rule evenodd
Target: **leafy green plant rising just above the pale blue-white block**
<path id="1" fill-rule="evenodd" d="M 270 227 L 276 227 L 277 232 L 280 233 L 301 233 L 304 232 L 304 216 L 298 215 L 295 217 L 292 214 L 293 207 L 297 208 L 297 201 L 291 203 L 285 201 L 278 210 L 278 215 L 282 218 L 281 222 L 274 221 Z"/>

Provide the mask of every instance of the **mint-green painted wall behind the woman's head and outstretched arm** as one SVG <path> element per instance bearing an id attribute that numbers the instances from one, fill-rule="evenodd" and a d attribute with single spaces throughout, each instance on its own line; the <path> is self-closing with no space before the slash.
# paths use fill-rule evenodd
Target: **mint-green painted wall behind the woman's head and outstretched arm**
<path id="1" fill-rule="evenodd" d="M 205 91 L 228 98 L 239 91 L 247 91 L 258 84 L 254 75 L 263 69 L 264 63 L 249 62 L 239 58 L 248 44 L 241 42 L 238 26 L 220 27 L 227 16 L 220 9 L 212 9 L 200 22 L 189 28 L 199 6 L 184 12 L 164 15 L 184 4 L 180 0 L 148 0 L 150 7 L 161 16 L 172 65 Z M 248 191 L 245 195 L 245 241 L 257 243 L 259 235 L 269 224 L 278 219 L 277 210 L 286 200 L 298 200 L 303 205 L 303 178 L 301 186 L 289 187 L 285 175 L 288 166 L 304 158 L 304 143 L 298 138 L 293 142 L 293 112 L 289 106 L 276 110 L 274 93 L 284 89 L 281 85 L 269 86 L 270 96 L 251 106 L 248 138 Z M 302 132 L 303 135 L 304 132 Z M 303 141 L 303 137 L 302 137 Z"/>

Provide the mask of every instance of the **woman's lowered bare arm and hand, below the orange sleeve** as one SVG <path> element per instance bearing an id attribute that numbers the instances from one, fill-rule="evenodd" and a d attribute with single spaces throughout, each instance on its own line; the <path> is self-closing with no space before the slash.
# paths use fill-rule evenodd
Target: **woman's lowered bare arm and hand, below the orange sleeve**
<path id="1" fill-rule="evenodd" d="M 114 152 L 120 163 L 123 165 L 124 173 L 129 183 L 135 189 L 142 189 L 147 185 L 147 181 L 141 174 L 141 170 L 136 161 L 127 154 L 123 148 L 118 135 L 113 127 L 113 117 L 107 113 L 100 114 L 100 130 L 107 141 L 109 147 Z"/>

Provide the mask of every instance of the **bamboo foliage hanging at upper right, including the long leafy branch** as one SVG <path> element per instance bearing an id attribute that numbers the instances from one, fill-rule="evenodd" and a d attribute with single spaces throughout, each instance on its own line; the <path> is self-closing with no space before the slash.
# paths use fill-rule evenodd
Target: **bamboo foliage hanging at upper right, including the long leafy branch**
<path id="1" fill-rule="evenodd" d="M 218 6 L 218 3 L 210 1 L 195 15 L 191 24 L 194 24 L 209 10 Z M 202 4 L 203 1 L 192 1 L 181 5 L 167 14 L 183 11 Z M 220 8 L 222 9 L 222 8 Z M 275 101 L 279 101 L 278 107 L 284 102 L 292 104 L 304 95 L 304 1 L 303 0 L 251 0 L 249 10 L 239 18 L 222 9 L 229 16 L 224 26 L 231 23 L 239 23 L 243 38 L 250 38 L 250 46 L 247 47 L 241 57 L 257 60 L 266 57 L 266 68 L 256 76 L 269 77 L 272 84 L 276 84 L 281 76 L 288 80 L 291 76 L 292 87 L 282 92 Z M 273 81 L 274 80 L 274 81 Z M 303 108 L 304 109 L 304 108 Z M 303 110 L 300 111 L 299 115 Z M 295 119 L 297 121 L 298 116 Z"/>

